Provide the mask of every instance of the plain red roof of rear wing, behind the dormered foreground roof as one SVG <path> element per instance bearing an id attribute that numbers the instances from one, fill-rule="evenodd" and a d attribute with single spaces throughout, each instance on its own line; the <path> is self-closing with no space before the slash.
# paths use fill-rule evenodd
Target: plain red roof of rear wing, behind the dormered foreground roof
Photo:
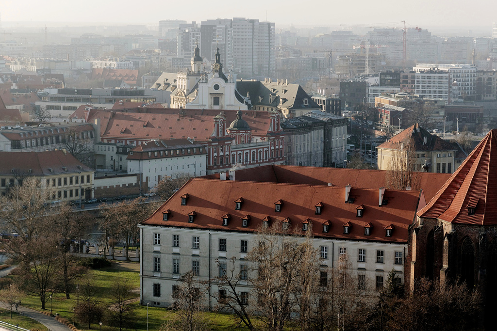
<path id="1" fill-rule="evenodd" d="M 287 165 L 268 165 L 257 168 L 242 169 L 235 172 L 236 181 L 293 183 L 308 185 L 331 185 L 353 188 L 379 189 L 388 187 L 388 172 L 384 170 L 343 169 L 325 167 L 302 167 Z M 423 190 L 424 198 L 429 201 L 435 196 L 450 174 L 424 173 L 417 174 L 417 189 Z M 204 178 L 219 178 L 219 174 Z"/>

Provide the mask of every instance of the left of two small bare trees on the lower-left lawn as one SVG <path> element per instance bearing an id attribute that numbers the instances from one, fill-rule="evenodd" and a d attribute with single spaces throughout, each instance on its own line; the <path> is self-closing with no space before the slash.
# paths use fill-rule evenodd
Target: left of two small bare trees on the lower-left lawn
<path id="1" fill-rule="evenodd" d="M 88 322 L 88 329 L 91 329 L 91 323 L 97 323 L 102 316 L 101 291 L 96 286 L 96 276 L 93 273 L 86 274 L 80 282 L 78 293 L 75 312 L 82 321 Z"/>

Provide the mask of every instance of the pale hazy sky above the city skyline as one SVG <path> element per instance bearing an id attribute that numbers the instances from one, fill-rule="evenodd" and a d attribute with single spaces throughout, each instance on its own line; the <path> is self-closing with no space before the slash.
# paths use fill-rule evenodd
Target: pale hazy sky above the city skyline
<path id="1" fill-rule="evenodd" d="M 266 16 L 267 13 L 267 16 Z M 336 26 L 400 22 L 423 28 L 472 29 L 497 21 L 496 0 L 1 0 L 3 22 L 158 24 L 161 19 L 188 22 L 246 17 L 277 25 Z M 385 24 L 391 26 L 392 24 Z M 397 24 L 396 26 L 400 26 Z"/>

